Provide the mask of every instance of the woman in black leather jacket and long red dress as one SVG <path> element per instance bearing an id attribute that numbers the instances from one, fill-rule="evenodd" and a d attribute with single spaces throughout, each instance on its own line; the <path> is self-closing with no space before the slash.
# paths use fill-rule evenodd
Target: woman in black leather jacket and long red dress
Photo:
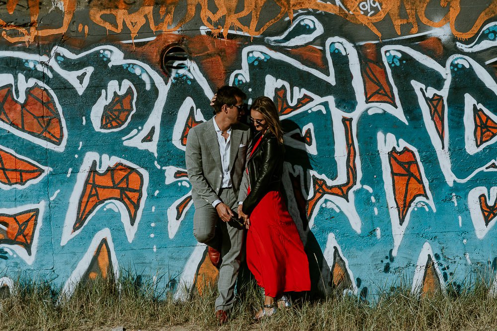
<path id="1" fill-rule="evenodd" d="M 276 312 L 285 292 L 309 291 L 311 281 L 304 246 L 280 193 L 285 150 L 273 101 L 257 98 L 250 120 L 258 133 L 242 182 L 248 195 L 238 213 L 248 229 L 248 268 L 265 292 L 264 306 L 255 315 L 259 320 Z"/>

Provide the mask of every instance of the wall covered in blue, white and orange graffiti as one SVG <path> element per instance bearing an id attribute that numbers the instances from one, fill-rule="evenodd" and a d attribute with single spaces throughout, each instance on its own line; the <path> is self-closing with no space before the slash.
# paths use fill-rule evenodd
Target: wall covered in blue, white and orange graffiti
<path id="1" fill-rule="evenodd" d="M 480 2 L 1 2 L 2 286 L 129 270 L 184 298 L 215 279 L 184 153 L 224 84 L 278 107 L 313 291 L 494 273 L 497 1 Z"/>

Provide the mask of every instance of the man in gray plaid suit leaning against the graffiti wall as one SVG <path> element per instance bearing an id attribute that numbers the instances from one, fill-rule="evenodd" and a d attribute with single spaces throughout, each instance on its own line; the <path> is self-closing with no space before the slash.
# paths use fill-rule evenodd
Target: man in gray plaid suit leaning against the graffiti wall
<path id="1" fill-rule="evenodd" d="M 186 169 L 195 205 L 193 234 L 209 246 L 213 264 L 221 262 L 215 308 L 220 324 L 227 321 L 233 307 L 244 237 L 243 226 L 232 217 L 237 218 L 233 210 L 238 208 L 251 148 L 250 129 L 239 123 L 246 98 L 237 87 L 221 87 L 214 101 L 214 118 L 190 129 L 186 142 Z"/>

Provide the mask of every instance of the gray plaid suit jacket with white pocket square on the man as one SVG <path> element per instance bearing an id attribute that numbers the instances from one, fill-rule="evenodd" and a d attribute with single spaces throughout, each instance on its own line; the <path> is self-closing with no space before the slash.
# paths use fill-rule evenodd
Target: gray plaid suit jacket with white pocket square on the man
<path id="1" fill-rule="evenodd" d="M 190 129 L 186 139 L 186 171 L 195 208 L 219 199 L 222 181 L 221 154 L 212 119 Z M 250 128 L 231 126 L 230 175 L 235 197 L 239 197 L 245 164 L 252 147 Z M 242 200 L 239 200 L 242 201 Z M 230 206 L 231 207 L 231 206 Z"/>

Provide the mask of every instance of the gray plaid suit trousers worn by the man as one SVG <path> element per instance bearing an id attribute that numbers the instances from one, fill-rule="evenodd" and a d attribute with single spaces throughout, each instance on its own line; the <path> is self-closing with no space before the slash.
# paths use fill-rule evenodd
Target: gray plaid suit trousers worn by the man
<path id="1" fill-rule="evenodd" d="M 223 189 L 219 199 L 237 215 L 238 201 L 233 189 Z M 193 234 L 198 242 L 204 243 L 221 253 L 219 267 L 216 311 L 229 311 L 235 301 L 235 283 L 242 260 L 244 229 L 236 222 L 223 222 L 212 205 L 207 204 L 195 209 L 193 215 Z"/>

